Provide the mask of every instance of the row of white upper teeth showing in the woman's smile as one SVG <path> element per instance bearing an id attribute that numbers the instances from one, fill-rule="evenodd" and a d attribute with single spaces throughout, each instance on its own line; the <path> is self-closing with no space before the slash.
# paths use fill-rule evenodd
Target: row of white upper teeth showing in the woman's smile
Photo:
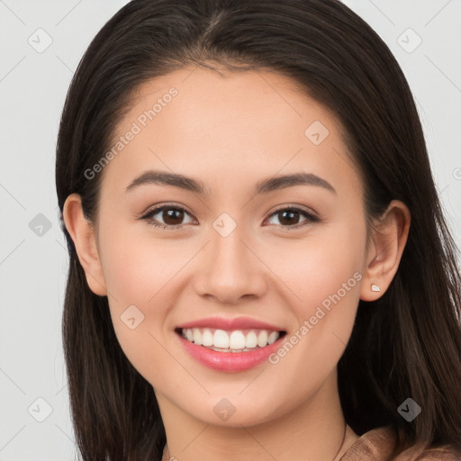
<path id="1" fill-rule="evenodd" d="M 182 329 L 183 338 L 194 342 L 197 346 L 219 350 L 221 352 L 245 352 L 252 348 L 265 348 L 279 337 L 279 331 L 267 330 L 212 330 L 203 328 Z"/>

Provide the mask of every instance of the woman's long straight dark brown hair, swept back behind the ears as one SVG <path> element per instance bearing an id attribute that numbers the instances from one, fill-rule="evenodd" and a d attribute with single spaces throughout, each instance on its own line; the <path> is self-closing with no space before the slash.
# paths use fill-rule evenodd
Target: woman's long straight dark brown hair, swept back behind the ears
<path id="1" fill-rule="evenodd" d="M 87 219 L 97 219 L 101 175 L 88 179 L 85 172 L 110 149 L 140 84 L 212 63 L 292 77 L 338 116 L 364 182 L 368 223 L 393 199 L 409 207 L 411 229 L 392 284 L 374 303 L 359 302 L 338 365 L 340 401 L 359 435 L 391 425 L 399 449 L 420 440 L 461 447 L 456 246 L 411 91 L 384 41 L 336 0 L 134 0 L 97 33 L 79 63 L 57 144 L 70 257 L 63 342 L 81 456 L 159 459 L 166 434 L 151 384 L 115 337 L 107 298 L 86 283 L 63 205 L 80 194 Z M 411 422 L 397 411 L 409 397 L 422 407 Z"/>

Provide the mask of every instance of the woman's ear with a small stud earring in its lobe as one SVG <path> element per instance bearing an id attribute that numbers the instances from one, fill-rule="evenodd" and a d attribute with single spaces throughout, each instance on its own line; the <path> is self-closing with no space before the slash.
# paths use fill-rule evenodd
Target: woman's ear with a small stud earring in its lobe
<path id="1" fill-rule="evenodd" d="M 381 219 L 375 222 L 360 289 L 363 301 L 375 301 L 391 285 L 407 242 L 410 223 L 411 213 L 400 200 L 389 203 Z M 377 285 L 380 291 L 373 291 L 372 285 Z"/>

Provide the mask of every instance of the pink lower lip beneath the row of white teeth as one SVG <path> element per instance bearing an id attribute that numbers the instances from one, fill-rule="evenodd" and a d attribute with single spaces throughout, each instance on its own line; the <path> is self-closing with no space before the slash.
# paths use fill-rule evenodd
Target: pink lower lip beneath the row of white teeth
<path id="1" fill-rule="evenodd" d="M 264 362 L 270 354 L 280 347 L 280 341 L 285 337 L 277 339 L 272 344 L 265 348 L 255 348 L 248 352 L 217 352 L 203 346 L 197 346 L 191 341 L 184 339 L 180 334 L 177 334 L 178 339 L 183 344 L 185 350 L 198 360 L 202 365 L 208 366 L 213 370 L 236 372 L 249 370 L 253 366 L 257 366 Z"/>

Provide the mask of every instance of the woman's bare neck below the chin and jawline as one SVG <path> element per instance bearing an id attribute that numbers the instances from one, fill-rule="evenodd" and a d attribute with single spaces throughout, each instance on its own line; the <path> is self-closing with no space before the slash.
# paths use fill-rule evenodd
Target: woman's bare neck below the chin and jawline
<path id="1" fill-rule="evenodd" d="M 346 425 L 332 378 L 292 411 L 233 427 L 196 420 L 157 393 L 167 432 L 162 461 L 339 461 L 358 436 Z"/>

